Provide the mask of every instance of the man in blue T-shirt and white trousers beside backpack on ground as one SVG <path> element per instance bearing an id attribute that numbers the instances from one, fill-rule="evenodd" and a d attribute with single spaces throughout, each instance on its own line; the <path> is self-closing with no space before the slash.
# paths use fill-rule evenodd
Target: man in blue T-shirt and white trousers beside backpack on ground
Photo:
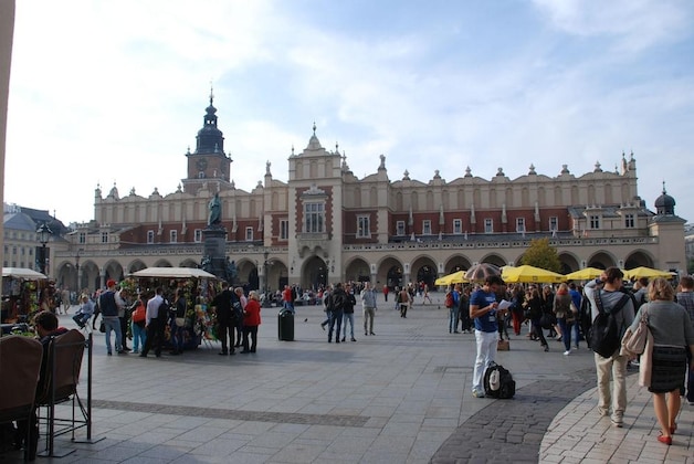
<path id="1" fill-rule="evenodd" d="M 501 276 L 491 275 L 484 281 L 484 286 L 470 297 L 470 317 L 475 323 L 475 341 L 477 342 L 477 357 L 472 377 L 472 396 L 476 398 L 484 398 L 484 387 L 482 386 L 484 370 L 490 362 L 496 359 L 496 342 L 498 340 L 496 294 L 502 285 L 504 285 L 504 281 Z"/>

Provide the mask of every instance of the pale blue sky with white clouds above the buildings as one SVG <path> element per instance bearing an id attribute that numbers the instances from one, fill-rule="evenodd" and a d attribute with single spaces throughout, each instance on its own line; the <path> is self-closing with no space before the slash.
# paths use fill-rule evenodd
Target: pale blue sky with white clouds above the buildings
<path id="1" fill-rule="evenodd" d="M 64 223 L 94 190 L 187 175 L 213 87 L 236 188 L 316 135 L 358 178 L 604 170 L 633 151 L 646 205 L 694 222 L 694 3 L 686 0 L 22 0 L 4 201 Z"/>

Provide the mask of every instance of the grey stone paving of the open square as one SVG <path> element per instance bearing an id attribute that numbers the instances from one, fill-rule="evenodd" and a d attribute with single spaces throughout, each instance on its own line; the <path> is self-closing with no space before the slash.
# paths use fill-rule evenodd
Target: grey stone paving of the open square
<path id="1" fill-rule="evenodd" d="M 566 357 L 556 341 L 544 352 L 525 335 L 512 336 L 497 361 L 513 372 L 516 399 L 473 398 L 474 335 L 449 334 L 441 303 L 434 296 L 434 305 L 416 305 L 403 319 L 381 300 L 377 335 L 364 336 L 357 312 L 358 341 L 339 345 L 327 342 L 320 307 L 297 307 L 293 342 L 277 340 L 277 309 L 264 308 L 257 354 L 233 357 L 218 356 L 217 344 L 159 359 L 107 357 L 104 336 L 95 334 L 93 436 L 101 440 L 59 436 L 56 444 L 73 452 L 41 462 L 667 462 L 693 454 L 688 405 L 669 451 L 658 449 L 641 389 L 630 388 L 633 425 L 611 429 L 596 418 L 585 347 Z M 73 326 L 70 316 L 61 323 Z M 84 399 L 86 366 L 82 372 Z M 619 457 L 638 436 L 649 460 Z M 8 453 L 0 463 L 20 458 Z"/>

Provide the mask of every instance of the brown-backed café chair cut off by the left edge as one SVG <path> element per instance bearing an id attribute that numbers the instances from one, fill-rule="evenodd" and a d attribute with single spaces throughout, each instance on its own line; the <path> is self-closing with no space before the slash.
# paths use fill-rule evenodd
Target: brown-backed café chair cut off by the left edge
<path id="1" fill-rule="evenodd" d="M 0 423 L 31 424 L 42 356 L 43 347 L 33 338 L 21 335 L 0 338 Z M 34 429 L 24 429 L 24 461 L 30 461 L 35 455 L 35 444 L 31 445 Z M 33 440 L 35 443 L 38 436 Z"/>

